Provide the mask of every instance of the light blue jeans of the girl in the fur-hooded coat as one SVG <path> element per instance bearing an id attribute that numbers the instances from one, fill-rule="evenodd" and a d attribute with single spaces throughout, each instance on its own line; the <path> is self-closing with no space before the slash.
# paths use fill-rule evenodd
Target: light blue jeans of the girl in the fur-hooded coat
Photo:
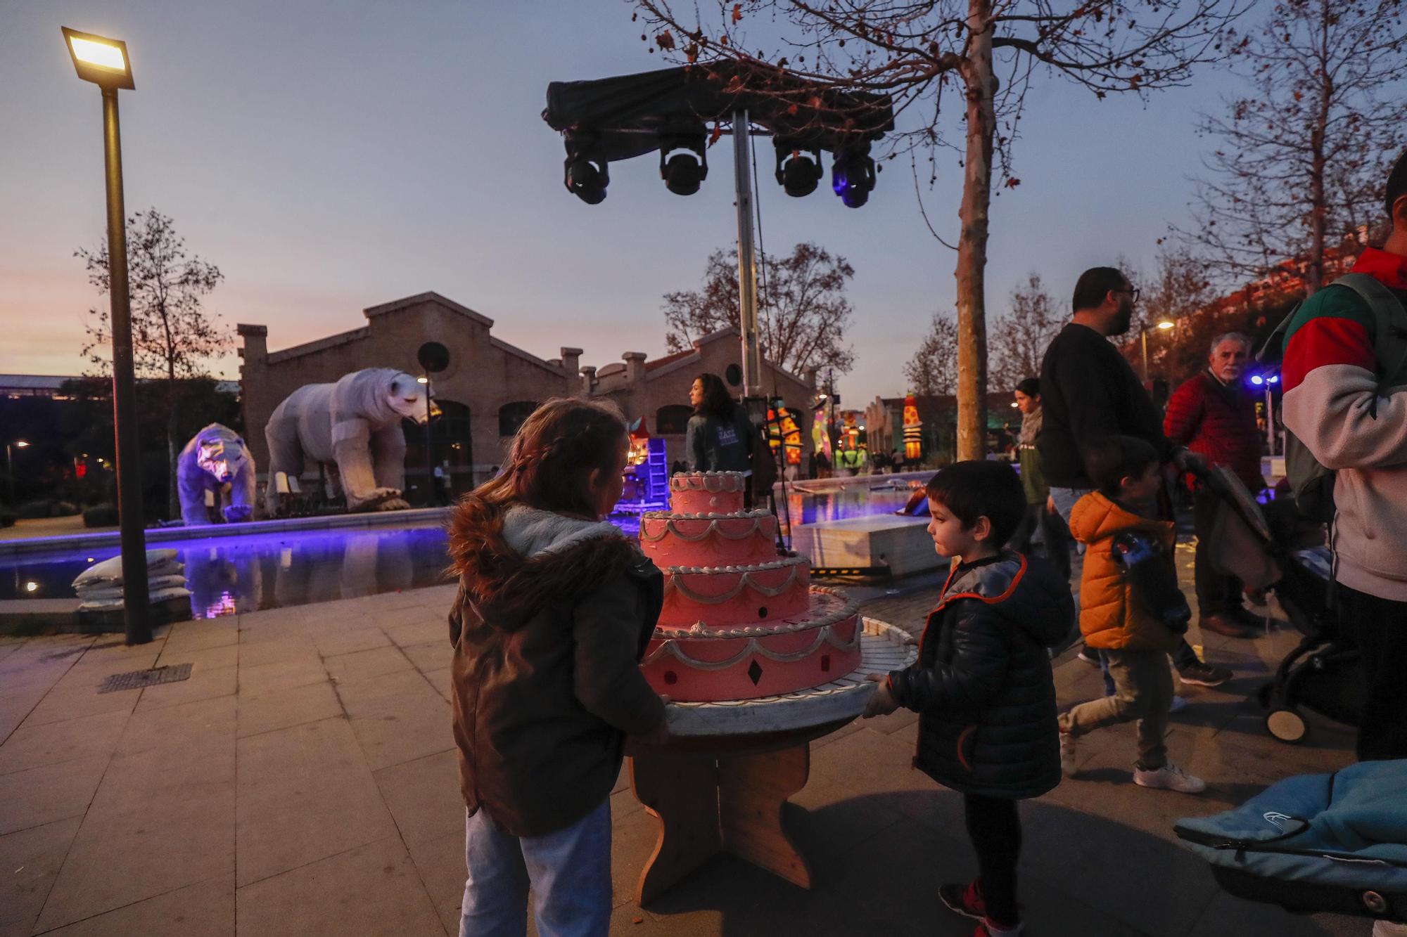
<path id="1" fill-rule="evenodd" d="M 611 801 L 547 836 L 512 836 L 478 810 L 464 824 L 464 865 L 459 937 L 522 937 L 529 885 L 540 937 L 606 937 Z"/>

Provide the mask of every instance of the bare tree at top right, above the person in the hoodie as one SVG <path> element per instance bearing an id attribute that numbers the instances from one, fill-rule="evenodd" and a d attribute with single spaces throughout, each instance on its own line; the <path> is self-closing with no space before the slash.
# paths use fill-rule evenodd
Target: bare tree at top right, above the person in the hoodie
<path id="1" fill-rule="evenodd" d="M 1279 0 L 1237 46 L 1249 87 L 1203 115 L 1216 138 L 1179 231 L 1228 280 L 1300 262 L 1307 293 L 1337 252 L 1355 253 L 1380 217 L 1386 166 L 1401 151 L 1401 0 Z"/>

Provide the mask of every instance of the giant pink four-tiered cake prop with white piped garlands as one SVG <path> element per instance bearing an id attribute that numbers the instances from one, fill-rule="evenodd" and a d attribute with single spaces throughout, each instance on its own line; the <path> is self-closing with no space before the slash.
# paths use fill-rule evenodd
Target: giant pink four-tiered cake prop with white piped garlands
<path id="1" fill-rule="evenodd" d="M 664 609 L 642 668 L 678 702 L 775 696 L 860 665 L 860 615 L 809 587 L 803 557 L 778 556 L 777 518 L 743 511 L 743 476 L 670 480 L 673 511 L 640 518 L 640 546 L 664 570 Z"/>

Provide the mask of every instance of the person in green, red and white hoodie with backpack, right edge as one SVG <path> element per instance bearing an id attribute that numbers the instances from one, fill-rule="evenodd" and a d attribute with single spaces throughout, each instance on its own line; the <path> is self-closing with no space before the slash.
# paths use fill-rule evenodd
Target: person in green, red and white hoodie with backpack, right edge
<path id="1" fill-rule="evenodd" d="M 1387 177 L 1392 235 L 1354 263 L 1403 308 L 1407 331 L 1407 153 Z M 1327 286 L 1285 340 L 1285 426 L 1334 478 L 1339 620 L 1362 650 L 1358 757 L 1407 757 L 1407 362 L 1382 362 L 1387 336 L 1356 291 Z M 1401 357 L 1393 355 L 1390 357 Z"/>

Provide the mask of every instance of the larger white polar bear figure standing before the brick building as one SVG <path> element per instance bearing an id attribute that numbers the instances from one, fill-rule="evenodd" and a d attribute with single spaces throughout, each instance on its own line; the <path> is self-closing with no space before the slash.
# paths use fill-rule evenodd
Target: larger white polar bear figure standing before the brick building
<path id="1" fill-rule="evenodd" d="M 401 421 L 425 425 L 425 384 L 394 367 L 367 367 L 336 384 L 304 384 L 288 394 L 265 425 L 269 485 L 265 504 L 277 508 L 277 473 L 303 474 L 305 463 L 329 470 L 349 511 L 408 508 L 405 436 Z"/>

